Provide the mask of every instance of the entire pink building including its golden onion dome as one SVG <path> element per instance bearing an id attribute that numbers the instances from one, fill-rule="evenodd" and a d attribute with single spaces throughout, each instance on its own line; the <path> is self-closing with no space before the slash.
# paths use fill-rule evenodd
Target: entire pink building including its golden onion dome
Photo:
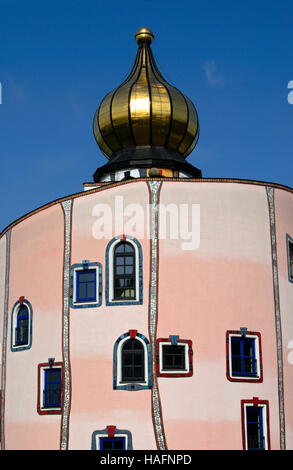
<path id="1" fill-rule="evenodd" d="M 1 449 L 293 449 L 293 190 L 186 163 L 196 110 L 136 39 L 109 163 L 0 235 Z"/>

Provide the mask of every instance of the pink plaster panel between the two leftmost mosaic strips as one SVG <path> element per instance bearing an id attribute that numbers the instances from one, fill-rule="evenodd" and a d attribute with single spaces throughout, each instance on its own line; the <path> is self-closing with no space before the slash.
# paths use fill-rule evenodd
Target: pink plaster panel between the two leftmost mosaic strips
<path id="1" fill-rule="evenodd" d="M 37 413 L 37 366 L 48 357 L 62 361 L 64 222 L 60 205 L 12 229 L 6 366 L 6 449 L 60 447 L 60 416 Z M 20 296 L 33 309 L 29 350 L 11 352 L 11 312 Z"/>

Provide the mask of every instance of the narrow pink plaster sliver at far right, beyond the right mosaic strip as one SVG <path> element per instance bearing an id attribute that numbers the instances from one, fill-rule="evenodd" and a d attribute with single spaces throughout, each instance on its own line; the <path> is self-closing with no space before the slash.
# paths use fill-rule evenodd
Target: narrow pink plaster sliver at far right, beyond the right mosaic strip
<path id="1" fill-rule="evenodd" d="M 287 449 L 293 449 L 293 283 L 288 280 L 286 235 L 293 238 L 293 194 L 275 190 L 279 295 L 283 342 L 284 408 Z"/>

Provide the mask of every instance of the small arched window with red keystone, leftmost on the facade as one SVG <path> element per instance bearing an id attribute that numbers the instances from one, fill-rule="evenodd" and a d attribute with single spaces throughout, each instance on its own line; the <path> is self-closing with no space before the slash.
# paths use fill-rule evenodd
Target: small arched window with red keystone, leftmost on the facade
<path id="1" fill-rule="evenodd" d="M 24 297 L 14 304 L 11 317 L 11 350 L 23 351 L 32 345 L 32 306 Z"/>

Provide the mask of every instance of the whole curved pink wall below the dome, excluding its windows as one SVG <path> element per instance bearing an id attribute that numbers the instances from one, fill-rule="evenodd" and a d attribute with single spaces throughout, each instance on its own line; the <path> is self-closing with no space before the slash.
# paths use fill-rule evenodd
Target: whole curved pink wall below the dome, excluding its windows
<path id="1" fill-rule="evenodd" d="M 0 239 L 2 449 L 90 449 L 93 433 L 107 426 L 131 432 L 134 449 L 241 449 L 242 400 L 268 404 L 272 449 L 293 448 L 293 284 L 286 248 L 293 195 L 276 185 L 270 194 L 273 205 L 262 183 L 109 183 L 8 227 Z M 160 205 L 168 214 L 165 237 L 158 232 L 165 217 Z M 200 211 L 200 227 L 193 227 L 200 228 L 200 243 L 195 237 L 190 248 L 192 205 L 195 218 Z M 189 224 L 182 233 L 180 214 Z M 142 297 L 110 305 L 107 247 L 123 236 L 140 245 Z M 101 267 L 101 299 L 76 308 L 71 267 L 83 262 Z M 11 316 L 21 297 L 32 306 L 32 345 L 13 351 Z M 227 377 L 227 332 L 240 328 L 261 337 L 262 378 L 255 383 Z M 113 389 L 115 343 L 131 331 L 150 343 L 152 389 Z M 160 376 L 157 340 L 177 336 L 192 341 L 193 371 Z M 63 367 L 62 409 L 40 414 L 38 366 L 49 358 Z"/>

